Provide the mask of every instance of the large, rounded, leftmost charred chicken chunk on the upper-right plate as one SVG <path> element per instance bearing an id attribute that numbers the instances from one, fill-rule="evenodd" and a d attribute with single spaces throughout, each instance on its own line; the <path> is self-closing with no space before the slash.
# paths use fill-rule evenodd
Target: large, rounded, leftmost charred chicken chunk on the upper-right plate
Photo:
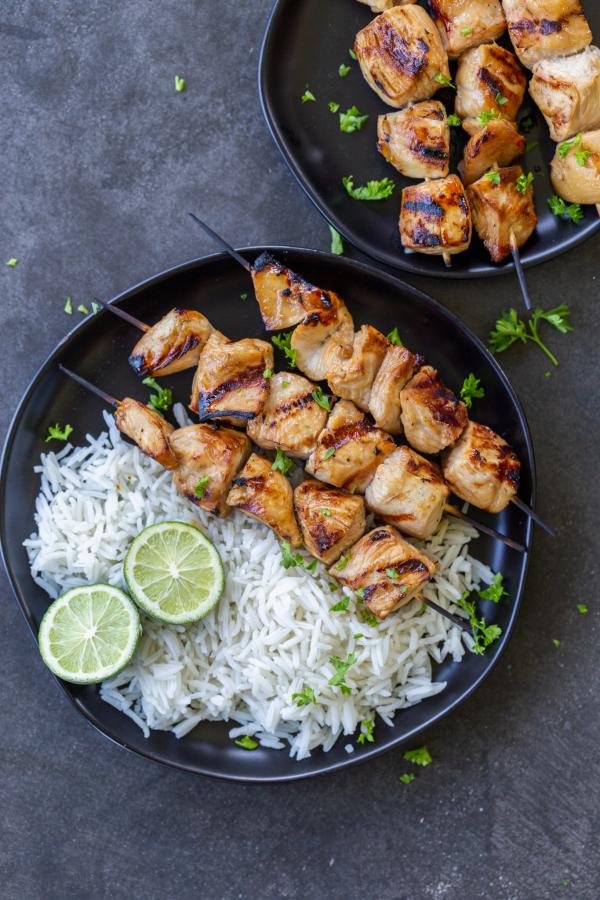
<path id="1" fill-rule="evenodd" d="M 450 75 L 437 28 L 420 6 L 376 16 L 356 35 L 354 52 L 367 84 L 389 106 L 433 97 Z"/>

